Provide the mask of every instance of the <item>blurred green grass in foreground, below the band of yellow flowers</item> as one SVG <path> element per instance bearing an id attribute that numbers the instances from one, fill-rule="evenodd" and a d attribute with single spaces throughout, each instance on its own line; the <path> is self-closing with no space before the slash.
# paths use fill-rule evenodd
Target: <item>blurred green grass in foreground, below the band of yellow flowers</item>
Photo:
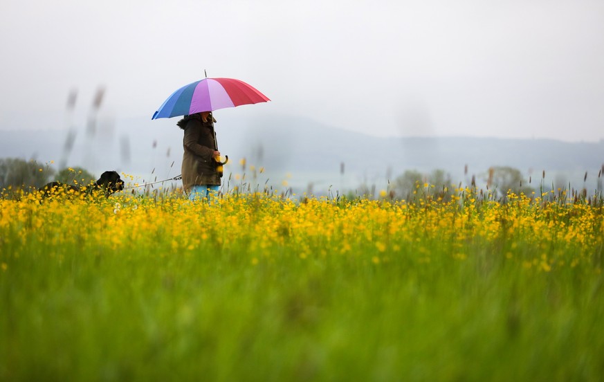
<path id="1" fill-rule="evenodd" d="M 247 213 L 237 208 L 226 215 Z M 174 251 L 164 233 L 108 250 L 103 236 L 50 246 L 46 228 L 23 241 L 19 227 L 0 230 L 1 381 L 604 378 L 601 238 L 418 234 L 396 251 L 358 239 L 340 254 L 341 238 L 292 229 L 253 251 L 237 232 L 223 233 L 228 246 Z M 313 248 L 305 258 L 300 240 Z M 452 256 L 459 248 L 465 260 Z M 567 261 L 529 267 L 542 253 Z"/>

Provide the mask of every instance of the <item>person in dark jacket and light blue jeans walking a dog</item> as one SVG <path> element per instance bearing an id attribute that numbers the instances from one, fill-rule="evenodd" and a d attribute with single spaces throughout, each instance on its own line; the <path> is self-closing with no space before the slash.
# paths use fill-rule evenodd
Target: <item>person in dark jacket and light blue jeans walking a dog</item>
<path id="1" fill-rule="evenodd" d="M 176 123 L 184 130 L 183 188 L 191 201 L 217 195 L 221 173 L 218 171 L 220 152 L 210 111 L 184 116 Z"/>

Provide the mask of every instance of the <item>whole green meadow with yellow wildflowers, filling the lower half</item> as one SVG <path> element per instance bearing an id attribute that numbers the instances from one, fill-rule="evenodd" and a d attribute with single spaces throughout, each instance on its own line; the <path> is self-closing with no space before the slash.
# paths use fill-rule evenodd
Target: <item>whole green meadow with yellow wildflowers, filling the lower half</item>
<path id="1" fill-rule="evenodd" d="M 0 198 L 0 381 L 602 381 L 601 196 Z"/>

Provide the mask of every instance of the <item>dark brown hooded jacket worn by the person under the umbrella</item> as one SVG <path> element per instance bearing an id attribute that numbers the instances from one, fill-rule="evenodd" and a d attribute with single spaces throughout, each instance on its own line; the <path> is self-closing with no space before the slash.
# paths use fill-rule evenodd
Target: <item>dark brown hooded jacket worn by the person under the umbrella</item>
<path id="1" fill-rule="evenodd" d="M 218 149 L 213 117 L 203 122 L 201 115 L 185 116 L 176 124 L 185 131 L 183 138 L 183 188 L 189 192 L 194 185 L 220 185 L 214 150 Z"/>

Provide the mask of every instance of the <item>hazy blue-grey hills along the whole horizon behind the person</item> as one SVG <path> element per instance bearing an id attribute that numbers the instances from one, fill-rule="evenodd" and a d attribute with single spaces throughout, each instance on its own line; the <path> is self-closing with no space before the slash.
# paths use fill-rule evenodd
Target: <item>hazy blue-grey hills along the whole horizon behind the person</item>
<path id="1" fill-rule="evenodd" d="M 118 121 L 111 134 L 106 131 L 88 138 L 78 132 L 66 163 L 93 172 L 111 169 L 151 180 L 154 176 L 174 176 L 180 173 L 182 156 L 182 131 L 174 126 L 177 119 Z M 237 162 L 245 157 L 248 164 L 265 167 L 275 182 L 291 174 L 289 183 L 297 188 L 308 183 L 354 188 L 362 182 L 394 179 L 405 170 L 428 173 L 442 169 L 455 181 L 467 181 L 491 166 L 515 167 L 533 179 L 540 179 L 544 170 L 547 176 L 555 174 L 583 183 L 585 172 L 588 180 L 595 182 L 604 163 L 604 140 L 380 138 L 325 126 L 310 118 L 286 116 L 244 120 L 230 113 L 219 118 L 217 134 L 221 152 L 231 158 L 227 172 L 241 171 Z M 66 136 L 66 131 L 0 131 L 0 157 L 59 163 Z M 464 174 L 466 165 L 468 174 Z"/>

